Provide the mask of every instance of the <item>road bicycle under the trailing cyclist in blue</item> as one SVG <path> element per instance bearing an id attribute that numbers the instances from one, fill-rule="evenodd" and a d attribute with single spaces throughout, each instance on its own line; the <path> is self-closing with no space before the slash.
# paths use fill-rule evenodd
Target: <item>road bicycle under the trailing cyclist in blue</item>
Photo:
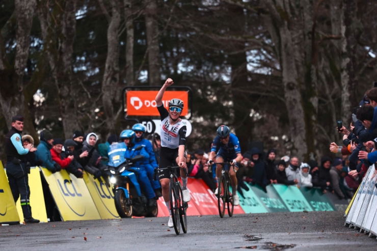
<path id="1" fill-rule="evenodd" d="M 228 209 L 228 215 L 229 217 L 233 216 L 233 209 L 234 209 L 234 203 L 233 203 L 233 193 L 229 190 L 230 186 L 230 176 L 229 171 L 224 168 L 225 165 L 230 165 L 231 168 L 234 170 L 234 165 L 231 165 L 229 162 L 223 162 L 223 163 L 215 163 L 213 164 L 221 164 L 222 170 L 221 170 L 221 177 L 220 177 L 220 183 L 218 184 L 218 208 L 219 208 L 219 214 L 220 217 L 224 217 L 225 213 L 225 204 L 227 204 Z"/>

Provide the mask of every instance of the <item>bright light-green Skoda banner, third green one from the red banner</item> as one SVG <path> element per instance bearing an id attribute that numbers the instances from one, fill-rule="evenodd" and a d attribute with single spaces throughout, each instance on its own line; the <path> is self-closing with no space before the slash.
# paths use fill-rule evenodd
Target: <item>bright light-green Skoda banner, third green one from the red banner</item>
<path id="1" fill-rule="evenodd" d="M 297 186 L 273 184 L 290 212 L 313 211 Z"/>

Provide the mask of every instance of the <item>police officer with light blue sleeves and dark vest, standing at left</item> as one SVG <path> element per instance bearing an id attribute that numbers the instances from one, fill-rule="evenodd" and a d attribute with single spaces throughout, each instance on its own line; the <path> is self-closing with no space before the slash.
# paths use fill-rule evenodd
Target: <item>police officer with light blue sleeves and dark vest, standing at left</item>
<path id="1" fill-rule="evenodd" d="M 23 117 L 14 116 L 12 118 L 12 128 L 5 136 L 5 151 L 7 153 L 7 176 L 11 187 L 14 202 L 20 196 L 21 208 L 25 223 L 38 223 L 38 219 L 32 217 L 30 206 L 30 188 L 28 173 L 26 170 L 24 155 L 34 152 L 37 149 L 32 144 L 24 148 L 21 142 L 21 132 L 23 130 Z"/>

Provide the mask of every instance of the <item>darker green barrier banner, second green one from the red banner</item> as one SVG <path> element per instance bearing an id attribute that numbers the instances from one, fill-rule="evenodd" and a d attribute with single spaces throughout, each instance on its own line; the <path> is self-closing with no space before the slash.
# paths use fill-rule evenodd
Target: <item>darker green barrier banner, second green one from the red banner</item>
<path id="1" fill-rule="evenodd" d="M 268 213 L 289 212 L 289 209 L 272 185 L 266 186 L 267 192 L 263 191 L 263 189 L 258 185 L 251 185 L 250 188 L 253 190 L 255 195 L 259 197 L 259 200 L 262 202 Z"/>

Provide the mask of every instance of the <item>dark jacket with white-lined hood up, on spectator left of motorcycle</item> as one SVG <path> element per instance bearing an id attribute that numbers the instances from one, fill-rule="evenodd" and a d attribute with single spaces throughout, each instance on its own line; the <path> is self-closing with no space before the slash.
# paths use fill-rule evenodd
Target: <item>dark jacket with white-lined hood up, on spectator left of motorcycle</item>
<path id="1" fill-rule="evenodd" d="M 102 168 L 101 162 L 97 164 L 97 159 L 99 158 L 99 154 L 95 148 L 95 146 L 89 145 L 89 138 L 90 136 L 96 137 L 96 142 L 98 140 L 97 134 L 94 132 L 91 132 L 87 135 L 85 141 L 83 142 L 83 152 L 88 151 L 89 155 L 85 158 L 86 165 L 83 166 L 85 171 L 87 171 L 90 174 L 93 174 L 95 176 L 100 176 L 99 172 Z"/>

